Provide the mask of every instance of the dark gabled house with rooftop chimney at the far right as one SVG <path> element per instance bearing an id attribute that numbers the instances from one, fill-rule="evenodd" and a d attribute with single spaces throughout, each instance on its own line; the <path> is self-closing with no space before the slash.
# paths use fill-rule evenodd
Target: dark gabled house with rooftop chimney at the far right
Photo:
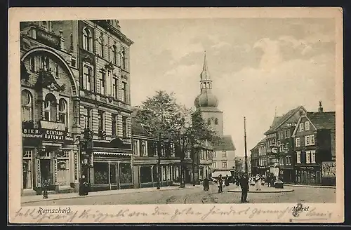
<path id="1" fill-rule="evenodd" d="M 322 102 L 318 112 L 300 114 L 293 131 L 296 183 L 335 185 L 335 173 L 326 175 L 322 169 L 324 163 L 333 163 L 335 169 L 335 130 L 335 111 L 323 111 Z"/>

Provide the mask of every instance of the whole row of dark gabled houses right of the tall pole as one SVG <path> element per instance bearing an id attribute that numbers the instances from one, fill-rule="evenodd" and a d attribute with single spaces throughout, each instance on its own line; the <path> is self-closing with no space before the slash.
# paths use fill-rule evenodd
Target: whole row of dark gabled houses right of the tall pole
<path id="1" fill-rule="evenodd" d="M 335 111 L 310 112 L 300 106 L 275 116 L 270 128 L 251 149 L 253 174 L 273 173 L 285 183 L 336 183 Z"/>

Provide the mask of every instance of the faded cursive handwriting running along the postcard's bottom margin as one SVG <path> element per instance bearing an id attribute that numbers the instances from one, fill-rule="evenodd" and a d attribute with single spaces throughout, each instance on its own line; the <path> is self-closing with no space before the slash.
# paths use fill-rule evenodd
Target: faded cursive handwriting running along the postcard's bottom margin
<path id="1" fill-rule="evenodd" d="M 113 212 L 104 212 L 101 210 L 84 209 L 72 210 L 71 208 L 20 208 L 15 212 L 15 219 L 32 219 L 34 222 L 114 222 L 134 219 L 135 217 L 160 217 L 162 220 L 179 221 L 191 217 L 190 219 L 199 219 L 206 221 L 207 219 L 226 217 L 248 217 L 249 219 L 257 219 L 259 216 L 270 215 L 274 219 L 281 219 L 286 217 L 286 214 L 293 212 L 306 212 L 305 216 L 309 218 L 316 217 L 331 217 L 331 212 L 318 212 L 315 208 L 303 207 L 297 205 L 293 208 L 286 207 L 282 209 L 269 208 L 253 208 L 241 207 L 238 208 L 230 205 L 226 208 L 219 208 L 218 205 L 210 206 L 210 208 L 201 208 L 197 210 L 193 207 L 176 208 L 176 210 L 169 210 L 169 208 L 156 206 L 149 211 L 137 211 L 129 208 L 119 208 Z M 290 214 L 291 215 L 291 214 Z"/>

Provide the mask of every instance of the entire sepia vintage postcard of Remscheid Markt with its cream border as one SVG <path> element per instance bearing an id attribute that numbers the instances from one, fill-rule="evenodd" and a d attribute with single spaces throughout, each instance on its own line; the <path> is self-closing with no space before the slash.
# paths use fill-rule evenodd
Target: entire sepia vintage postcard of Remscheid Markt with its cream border
<path id="1" fill-rule="evenodd" d="M 344 221 L 341 8 L 11 8 L 11 223 Z"/>

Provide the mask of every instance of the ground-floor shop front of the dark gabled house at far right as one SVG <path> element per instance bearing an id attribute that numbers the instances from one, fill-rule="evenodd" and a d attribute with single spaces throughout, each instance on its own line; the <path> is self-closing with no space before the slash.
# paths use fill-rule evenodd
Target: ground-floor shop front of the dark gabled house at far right
<path id="1" fill-rule="evenodd" d="M 321 184 L 321 167 L 319 165 L 296 166 L 296 184 Z"/>

